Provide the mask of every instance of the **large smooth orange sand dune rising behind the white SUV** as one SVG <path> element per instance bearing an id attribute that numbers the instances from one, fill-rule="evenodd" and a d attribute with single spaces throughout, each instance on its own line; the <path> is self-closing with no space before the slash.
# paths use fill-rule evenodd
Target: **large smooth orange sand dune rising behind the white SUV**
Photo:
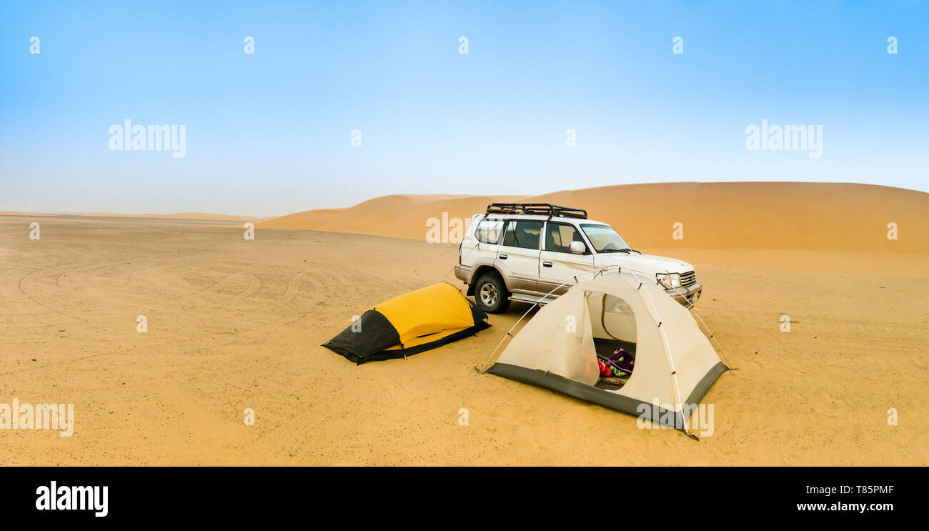
<path id="1" fill-rule="evenodd" d="M 394 195 L 351 208 L 284 215 L 258 227 L 425 238 L 426 220 L 468 218 L 491 201 L 585 208 L 636 248 L 929 252 L 929 194 L 833 183 L 668 183 L 559 191 L 535 197 Z M 674 240 L 681 223 L 684 239 Z M 896 223 L 898 239 L 888 240 Z"/>

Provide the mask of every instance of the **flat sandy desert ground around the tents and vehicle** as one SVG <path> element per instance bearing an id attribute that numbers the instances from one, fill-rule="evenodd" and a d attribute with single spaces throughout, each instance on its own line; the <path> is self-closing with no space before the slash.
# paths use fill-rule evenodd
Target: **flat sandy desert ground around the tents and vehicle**
<path id="1" fill-rule="evenodd" d="M 406 360 L 357 367 L 319 346 L 372 304 L 453 281 L 455 246 L 88 216 L 43 216 L 29 240 L 31 221 L 0 215 L 0 403 L 73 403 L 76 425 L 0 431 L 2 464 L 929 464 L 925 276 L 679 249 L 739 369 L 706 395 L 714 433 L 695 442 L 478 374 L 527 306 Z"/>

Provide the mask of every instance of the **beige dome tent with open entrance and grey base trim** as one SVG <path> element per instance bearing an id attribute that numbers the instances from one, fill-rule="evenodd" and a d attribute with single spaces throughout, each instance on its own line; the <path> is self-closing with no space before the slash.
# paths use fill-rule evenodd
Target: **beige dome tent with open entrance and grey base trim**
<path id="1" fill-rule="evenodd" d="M 619 348 L 635 355 L 628 380 L 600 381 L 597 353 Z M 655 278 L 613 269 L 543 306 L 488 371 L 689 434 L 689 413 L 727 369 Z"/>

